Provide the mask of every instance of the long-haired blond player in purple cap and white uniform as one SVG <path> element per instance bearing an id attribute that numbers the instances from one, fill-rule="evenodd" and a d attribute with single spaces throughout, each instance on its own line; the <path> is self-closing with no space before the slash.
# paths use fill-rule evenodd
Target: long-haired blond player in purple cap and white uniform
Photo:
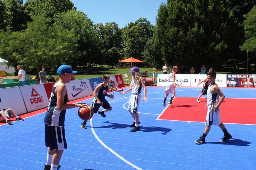
<path id="1" fill-rule="evenodd" d="M 141 87 L 144 89 L 144 97 L 142 100 L 145 102 L 148 100 L 147 99 L 147 89 L 145 84 L 142 81 L 142 77 L 140 76 L 140 69 L 138 67 L 132 67 L 132 69 L 129 71 L 132 73 L 132 80 L 130 83 L 130 88 L 126 90 L 125 92 L 119 92 L 120 94 L 125 94 L 129 91 L 132 90 L 132 94 L 128 100 L 128 111 L 132 115 L 132 118 L 134 122 L 132 123 L 131 127 L 134 127 L 131 129 L 131 132 L 136 132 L 140 130 L 139 124 L 139 104 L 140 104 L 140 99 L 141 99 Z"/>

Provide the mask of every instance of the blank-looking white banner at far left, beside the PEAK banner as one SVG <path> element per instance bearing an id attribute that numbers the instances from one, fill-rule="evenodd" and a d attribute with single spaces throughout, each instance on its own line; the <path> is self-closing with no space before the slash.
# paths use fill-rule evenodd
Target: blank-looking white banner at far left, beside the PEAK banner
<path id="1" fill-rule="evenodd" d="M 27 112 L 19 87 L 0 89 L 0 94 L 1 110 L 11 108 L 17 115 Z"/>

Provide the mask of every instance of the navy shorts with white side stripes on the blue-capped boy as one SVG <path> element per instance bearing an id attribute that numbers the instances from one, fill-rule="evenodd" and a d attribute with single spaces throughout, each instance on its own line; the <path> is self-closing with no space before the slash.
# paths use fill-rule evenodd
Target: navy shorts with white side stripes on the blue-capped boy
<path id="1" fill-rule="evenodd" d="M 50 147 L 50 150 L 57 149 L 62 151 L 67 149 L 64 126 L 47 126 L 45 129 L 45 146 Z"/>

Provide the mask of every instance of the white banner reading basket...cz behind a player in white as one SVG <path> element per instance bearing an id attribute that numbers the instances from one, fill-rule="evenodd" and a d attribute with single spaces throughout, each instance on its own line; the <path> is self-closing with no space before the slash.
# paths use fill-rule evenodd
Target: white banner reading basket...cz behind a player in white
<path id="1" fill-rule="evenodd" d="M 157 86 L 167 86 L 170 82 L 170 74 L 158 74 Z M 175 82 L 177 85 L 190 87 L 190 74 L 176 74 Z"/>

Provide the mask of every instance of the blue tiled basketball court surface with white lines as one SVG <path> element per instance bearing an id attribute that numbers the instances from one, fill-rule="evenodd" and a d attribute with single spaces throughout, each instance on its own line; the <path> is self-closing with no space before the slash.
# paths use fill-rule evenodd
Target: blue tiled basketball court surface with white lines
<path id="1" fill-rule="evenodd" d="M 226 98 L 256 99 L 256 89 L 221 90 Z M 105 118 L 95 114 L 87 122 L 87 129 L 80 127 L 83 121 L 78 117 L 78 108 L 67 110 L 65 134 L 68 149 L 60 160 L 60 170 L 256 169 L 255 125 L 225 124 L 233 136 L 225 143 L 220 142 L 223 137 L 221 129 L 212 126 L 205 138 L 207 143 L 198 145 L 195 140 L 204 132 L 203 122 L 157 120 L 165 109 L 161 105 L 165 95 L 163 91 L 164 87 L 147 87 L 148 101 L 140 102 L 141 130 L 137 132 L 130 132 L 133 119 L 126 110 L 131 92 L 124 95 L 115 92 L 113 100 L 106 97 L 113 110 L 107 112 Z M 176 97 L 197 97 L 200 92 L 201 88 L 177 87 Z M 92 99 L 83 102 L 91 104 Z M 255 103 L 243 106 L 244 111 L 252 105 Z M 234 103 L 234 107 L 242 106 Z M 44 168 L 47 156 L 44 115 L 0 126 L 0 169 Z"/>

